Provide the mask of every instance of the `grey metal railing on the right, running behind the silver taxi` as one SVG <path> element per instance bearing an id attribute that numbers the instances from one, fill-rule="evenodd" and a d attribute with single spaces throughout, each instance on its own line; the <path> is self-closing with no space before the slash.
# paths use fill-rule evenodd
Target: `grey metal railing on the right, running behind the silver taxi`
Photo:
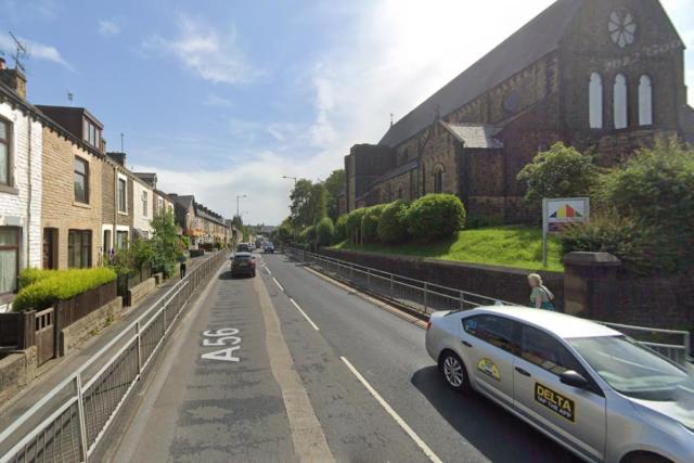
<path id="1" fill-rule="evenodd" d="M 468 310 L 484 306 L 517 304 L 385 272 L 305 249 L 286 247 L 284 254 L 330 276 L 343 280 L 408 309 L 429 314 L 438 310 Z M 595 321 L 614 327 L 668 359 L 684 364 L 691 359 L 691 337 L 686 331 L 660 330 Z"/>

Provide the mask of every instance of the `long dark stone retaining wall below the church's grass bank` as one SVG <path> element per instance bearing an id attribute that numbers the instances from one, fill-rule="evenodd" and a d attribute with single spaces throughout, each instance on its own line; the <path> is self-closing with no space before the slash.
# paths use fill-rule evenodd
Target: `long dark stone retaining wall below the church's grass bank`
<path id="1" fill-rule="evenodd" d="M 455 290 L 499 298 L 523 306 L 529 304 L 530 291 L 527 283 L 529 272 L 523 269 L 345 249 L 321 248 L 320 253 L 335 259 Z M 540 274 L 545 285 L 554 293 L 557 306 L 562 308 L 564 301 L 564 274 L 558 272 L 540 272 Z"/>

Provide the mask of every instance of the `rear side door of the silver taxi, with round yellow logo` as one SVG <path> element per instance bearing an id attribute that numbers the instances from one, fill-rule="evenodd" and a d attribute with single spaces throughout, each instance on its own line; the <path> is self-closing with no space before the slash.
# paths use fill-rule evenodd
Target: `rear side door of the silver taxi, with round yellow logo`
<path id="1" fill-rule="evenodd" d="M 463 320 L 463 351 L 478 389 L 513 408 L 514 321 L 491 314 Z"/>

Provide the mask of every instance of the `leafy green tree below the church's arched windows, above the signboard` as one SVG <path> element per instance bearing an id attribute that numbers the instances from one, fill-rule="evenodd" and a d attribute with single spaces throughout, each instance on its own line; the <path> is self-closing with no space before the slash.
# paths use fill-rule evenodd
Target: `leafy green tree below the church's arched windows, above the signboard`
<path id="1" fill-rule="evenodd" d="M 597 181 L 591 156 L 558 142 L 540 152 L 516 179 L 527 185 L 525 198 L 537 203 L 545 197 L 587 196 Z"/>

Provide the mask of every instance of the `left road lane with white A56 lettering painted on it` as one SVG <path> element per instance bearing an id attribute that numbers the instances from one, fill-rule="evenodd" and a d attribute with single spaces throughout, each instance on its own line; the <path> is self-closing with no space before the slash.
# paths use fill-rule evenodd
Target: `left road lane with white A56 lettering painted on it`
<path id="1" fill-rule="evenodd" d="M 295 461 L 253 281 L 228 269 L 183 321 L 190 329 L 166 352 L 175 361 L 156 372 L 160 389 L 147 390 L 118 461 Z"/>

